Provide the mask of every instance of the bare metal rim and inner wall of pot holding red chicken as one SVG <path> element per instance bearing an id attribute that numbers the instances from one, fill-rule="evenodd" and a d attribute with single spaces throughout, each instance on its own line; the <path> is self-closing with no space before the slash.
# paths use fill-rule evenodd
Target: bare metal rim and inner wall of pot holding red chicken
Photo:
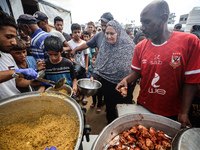
<path id="1" fill-rule="evenodd" d="M 161 130 L 170 137 L 174 137 L 180 130 L 181 124 L 166 117 L 155 114 L 126 114 L 111 122 L 99 134 L 93 143 L 92 150 L 102 150 L 116 135 L 132 126 L 144 125 Z"/>

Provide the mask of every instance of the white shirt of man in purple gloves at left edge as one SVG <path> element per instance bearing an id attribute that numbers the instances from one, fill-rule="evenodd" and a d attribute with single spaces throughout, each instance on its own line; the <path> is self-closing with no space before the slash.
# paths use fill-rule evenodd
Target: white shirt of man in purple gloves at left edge
<path id="1" fill-rule="evenodd" d="M 10 54 L 0 51 L 0 71 L 18 69 L 13 57 Z M 15 78 L 0 83 L 0 100 L 21 92 L 16 87 Z"/>

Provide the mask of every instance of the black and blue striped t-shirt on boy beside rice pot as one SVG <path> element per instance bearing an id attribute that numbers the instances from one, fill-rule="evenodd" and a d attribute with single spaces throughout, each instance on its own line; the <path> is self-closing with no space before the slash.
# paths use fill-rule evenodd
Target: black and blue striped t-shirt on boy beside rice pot
<path id="1" fill-rule="evenodd" d="M 52 64 L 49 59 L 45 60 L 46 70 L 45 78 L 57 82 L 61 78 L 66 78 L 65 84 L 72 87 L 72 81 L 76 78 L 76 72 L 72 62 L 66 58 L 62 58 L 58 64 Z"/>

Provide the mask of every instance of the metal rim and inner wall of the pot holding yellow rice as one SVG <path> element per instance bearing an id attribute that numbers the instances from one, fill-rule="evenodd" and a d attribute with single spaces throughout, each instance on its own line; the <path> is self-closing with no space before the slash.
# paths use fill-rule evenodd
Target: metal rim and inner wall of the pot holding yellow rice
<path id="1" fill-rule="evenodd" d="M 68 115 L 77 119 L 79 135 L 75 150 L 78 150 L 82 141 L 84 119 L 80 106 L 69 96 L 58 92 L 27 92 L 12 96 L 0 102 L 0 127 L 22 121 L 38 120 L 44 114 Z M 67 140 L 67 139 L 66 139 Z"/>

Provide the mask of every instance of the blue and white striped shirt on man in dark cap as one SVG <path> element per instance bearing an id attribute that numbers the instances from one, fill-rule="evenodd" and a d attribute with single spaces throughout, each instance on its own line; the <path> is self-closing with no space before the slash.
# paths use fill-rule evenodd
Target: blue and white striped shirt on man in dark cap
<path id="1" fill-rule="evenodd" d="M 48 58 L 47 52 L 44 49 L 44 40 L 51 34 L 44 32 L 42 29 L 36 30 L 31 37 L 31 54 L 36 61 Z"/>

